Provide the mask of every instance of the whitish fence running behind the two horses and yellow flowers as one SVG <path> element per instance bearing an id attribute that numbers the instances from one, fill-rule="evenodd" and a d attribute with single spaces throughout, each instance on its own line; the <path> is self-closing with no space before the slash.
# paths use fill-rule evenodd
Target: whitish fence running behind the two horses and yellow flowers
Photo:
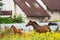
<path id="1" fill-rule="evenodd" d="M 48 25 L 49 22 L 43 22 L 43 23 L 38 23 L 39 25 L 43 26 L 43 25 Z M 59 30 L 60 30 L 60 22 L 56 22 L 59 25 Z M 16 23 L 16 24 L 0 24 L 1 27 L 4 29 L 5 26 L 7 27 L 11 27 L 11 25 L 14 25 L 16 28 L 20 28 L 23 29 L 23 31 L 29 31 L 29 30 L 34 30 L 34 28 L 32 26 L 26 27 L 25 23 Z M 58 26 L 56 25 L 51 25 L 50 28 L 51 30 L 56 30 Z"/>

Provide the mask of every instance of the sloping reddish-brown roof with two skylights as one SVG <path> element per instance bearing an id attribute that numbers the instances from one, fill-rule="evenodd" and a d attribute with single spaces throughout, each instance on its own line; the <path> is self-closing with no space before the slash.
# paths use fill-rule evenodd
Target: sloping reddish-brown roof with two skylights
<path id="1" fill-rule="evenodd" d="M 36 0 L 14 0 L 14 2 L 25 12 L 27 16 L 50 17 L 50 15 Z"/>

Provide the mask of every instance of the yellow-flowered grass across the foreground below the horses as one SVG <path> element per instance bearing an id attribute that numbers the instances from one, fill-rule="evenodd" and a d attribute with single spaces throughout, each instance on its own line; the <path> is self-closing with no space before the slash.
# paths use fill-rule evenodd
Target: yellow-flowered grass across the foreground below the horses
<path id="1" fill-rule="evenodd" d="M 4 35 L 0 40 L 60 40 L 59 32 L 47 32 L 47 33 L 37 33 L 31 31 L 29 33 L 19 34 L 8 34 Z"/>

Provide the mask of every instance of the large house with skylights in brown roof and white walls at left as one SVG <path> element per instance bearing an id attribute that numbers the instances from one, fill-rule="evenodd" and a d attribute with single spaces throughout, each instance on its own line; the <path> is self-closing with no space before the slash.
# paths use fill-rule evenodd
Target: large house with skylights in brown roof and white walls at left
<path id="1" fill-rule="evenodd" d="M 34 20 L 36 22 L 47 21 L 50 15 L 36 0 L 2 0 L 2 10 L 12 10 L 13 15 L 22 15 L 25 22 Z"/>

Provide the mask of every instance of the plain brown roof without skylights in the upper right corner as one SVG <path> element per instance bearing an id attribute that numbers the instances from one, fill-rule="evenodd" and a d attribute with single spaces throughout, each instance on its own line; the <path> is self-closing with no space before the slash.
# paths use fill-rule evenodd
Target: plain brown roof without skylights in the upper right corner
<path id="1" fill-rule="evenodd" d="M 49 10 L 60 11 L 60 0 L 42 0 Z"/>

